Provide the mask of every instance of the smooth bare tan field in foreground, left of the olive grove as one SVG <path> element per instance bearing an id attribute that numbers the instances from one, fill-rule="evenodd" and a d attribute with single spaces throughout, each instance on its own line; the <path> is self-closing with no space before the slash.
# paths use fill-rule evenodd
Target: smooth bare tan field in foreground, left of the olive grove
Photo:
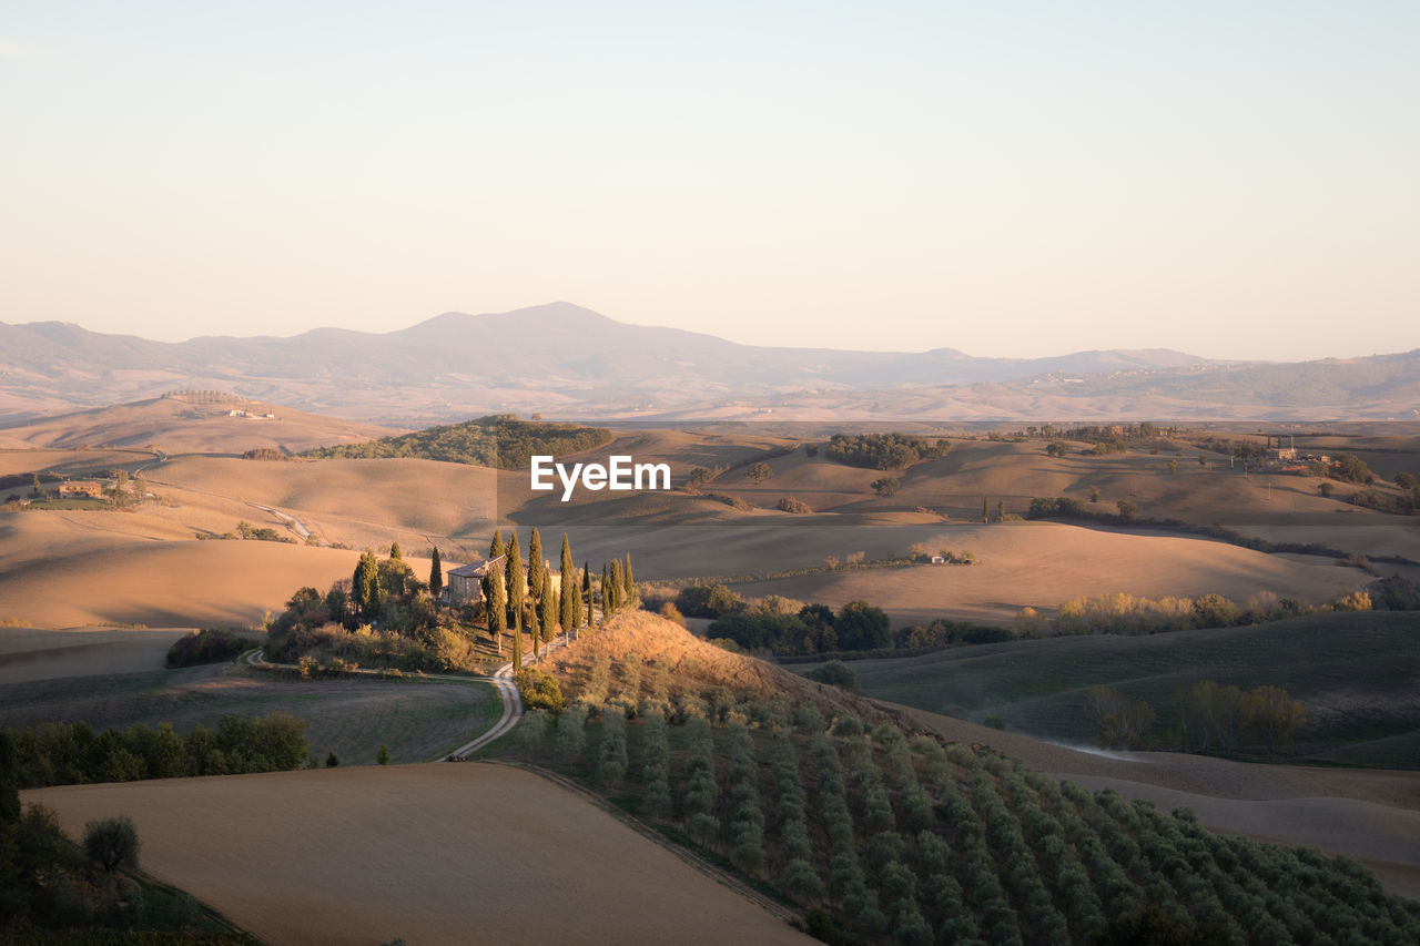
<path id="1" fill-rule="evenodd" d="M 274 943 L 808 940 L 585 800 L 423 764 L 24 793 L 67 831 L 128 814 L 142 864 Z"/>

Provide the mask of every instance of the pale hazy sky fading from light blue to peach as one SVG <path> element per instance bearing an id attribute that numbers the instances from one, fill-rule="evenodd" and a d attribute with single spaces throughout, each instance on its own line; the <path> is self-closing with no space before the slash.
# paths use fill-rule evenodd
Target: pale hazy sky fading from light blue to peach
<path id="1" fill-rule="evenodd" d="M 1417 37 L 1413 0 L 11 1 L 0 321 L 1416 348 Z"/>

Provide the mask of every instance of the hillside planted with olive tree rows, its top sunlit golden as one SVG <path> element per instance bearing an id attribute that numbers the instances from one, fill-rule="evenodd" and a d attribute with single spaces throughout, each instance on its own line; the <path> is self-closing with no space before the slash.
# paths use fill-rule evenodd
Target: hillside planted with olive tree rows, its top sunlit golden
<path id="1" fill-rule="evenodd" d="M 1216 797 L 1203 805 L 1210 821 L 1335 845 L 1414 889 L 1413 776 L 1387 784 L 1332 770 L 1325 780 L 1336 797 L 1308 808 L 1298 793 L 1322 781 L 1261 767 L 1262 783 L 1281 791 L 1258 803 L 1245 793 L 1261 783 L 1242 794 L 1227 785 L 1235 774 L 1228 766 L 1247 768 L 1237 763 L 1198 760 L 1203 778 L 1190 780 L 1190 760 L 1179 757 L 1172 781 L 1139 780 L 1149 763 L 1136 757 L 865 703 L 706 646 L 643 614 L 588 629 L 554 655 L 567 709 L 530 714 L 513 741 L 487 751 L 551 768 L 692 852 L 767 884 L 831 942 L 889 933 L 922 943 L 1093 942 L 1142 902 L 1180 929 L 1208 930 L 1207 942 L 1305 940 L 1372 922 L 1365 939 L 1402 943 L 1420 920 L 1414 905 L 1384 898 L 1348 915 L 1366 899 L 1359 886 L 1343 893 L 1348 884 L 1379 893 L 1348 862 L 1214 835 L 1189 812 L 1126 801 L 1184 798 L 1211 785 Z M 1056 783 L 991 746 L 1031 766 L 1108 780 L 1109 791 Z M 1287 893 L 1255 898 L 1268 889 Z M 1318 899 L 1350 906 L 1328 912 Z"/>

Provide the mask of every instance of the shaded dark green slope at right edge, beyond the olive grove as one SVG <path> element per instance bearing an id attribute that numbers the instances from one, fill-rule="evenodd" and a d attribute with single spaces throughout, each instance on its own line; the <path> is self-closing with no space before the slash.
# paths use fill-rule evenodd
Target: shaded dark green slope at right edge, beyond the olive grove
<path id="1" fill-rule="evenodd" d="M 957 648 L 913 659 L 861 660 L 876 697 L 1012 730 L 1088 741 L 1085 690 L 1115 686 L 1172 724 L 1170 695 L 1214 679 L 1285 687 L 1306 709 L 1298 753 L 1350 764 L 1414 766 L 1420 746 L 1420 615 L 1326 614 L 1250 628 L 1142 638 L 1082 636 Z"/>

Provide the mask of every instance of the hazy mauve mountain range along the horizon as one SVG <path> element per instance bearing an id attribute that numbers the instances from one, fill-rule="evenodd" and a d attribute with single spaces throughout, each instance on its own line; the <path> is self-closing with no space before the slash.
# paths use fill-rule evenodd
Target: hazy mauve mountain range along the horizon
<path id="1" fill-rule="evenodd" d="M 582 419 L 1420 419 L 1420 349 L 1220 362 L 1172 349 L 974 358 L 740 345 L 571 303 L 446 312 L 392 332 L 158 342 L 0 322 L 0 419 L 220 389 L 413 426 L 494 412 Z"/>

